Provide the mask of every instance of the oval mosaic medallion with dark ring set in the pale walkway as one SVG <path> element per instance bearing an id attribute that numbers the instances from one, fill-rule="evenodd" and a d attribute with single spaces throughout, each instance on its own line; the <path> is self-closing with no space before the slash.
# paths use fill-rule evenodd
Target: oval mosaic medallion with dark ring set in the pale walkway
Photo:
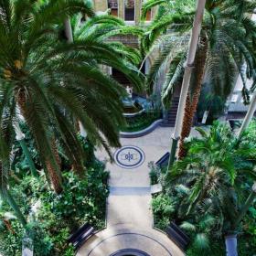
<path id="1" fill-rule="evenodd" d="M 134 145 L 123 146 L 115 152 L 114 160 L 116 165 L 133 169 L 144 163 L 144 151 Z"/>

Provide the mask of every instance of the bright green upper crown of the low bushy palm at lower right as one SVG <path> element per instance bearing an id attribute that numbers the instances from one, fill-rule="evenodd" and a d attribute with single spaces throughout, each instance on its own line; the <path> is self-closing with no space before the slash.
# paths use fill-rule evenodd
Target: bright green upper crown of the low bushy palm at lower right
<path id="1" fill-rule="evenodd" d="M 186 198 L 187 214 L 206 197 L 222 193 L 219 199 L 224 198 L 231 187 L 239 188 L 248 179 L 252 182 L 256 175 L 253 170 L 256 150 L 250 141 L 239 142 L 229 127 L 217 122 L 209 133 L 201 128 L 197 131 L 202 138 L 187 143 L 187 157 L 176 162 L 167 179 L 176 183 L 186 181 L 191 187 L 191 194 Z"/>

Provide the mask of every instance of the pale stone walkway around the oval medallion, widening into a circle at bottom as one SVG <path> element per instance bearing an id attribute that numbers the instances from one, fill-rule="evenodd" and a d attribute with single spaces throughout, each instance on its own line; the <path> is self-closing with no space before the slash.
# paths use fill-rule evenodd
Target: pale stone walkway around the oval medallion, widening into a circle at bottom
<path id="1" fill-rule="evenodd" d="M 153 229 L 150 208 L 147 165 L 151 161 L 157 161 L 169 150 L 171 133 L 171 128 L 159 127 L 144 137 L 121 139 L 123 146 L 137 146 L 144 151 L 144 163 L 133 169 L 107 164 L 111 172 L 107 229 L 101 230 L 88 240 L 77 256 L 110 256 L 123 249 L 144 251 L 150 256 L 185 255 L 164 233 Z M 101 160 L 107 157 L 102 151 L 97 152 L 97 156 Z"/>

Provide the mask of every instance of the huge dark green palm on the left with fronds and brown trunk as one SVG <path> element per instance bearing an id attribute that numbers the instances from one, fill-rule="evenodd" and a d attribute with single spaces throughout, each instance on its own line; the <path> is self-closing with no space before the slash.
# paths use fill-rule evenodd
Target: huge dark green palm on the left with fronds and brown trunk
<path id="1" fill-rule="evenodd" d="M 83 1 L 2 1 L 0 3 L 0 121 L 21 113 L 35 139 L 42 164 L 57 193 L 62 190 L 56 139 L 71 163 L 82 165 L 82 150 L 72 125 L 80 120 L 96 145 L 119 146 L 123 123 L 122 86 L 95 65 L 106 59 L 140 87 L 141 77 L 123 59 L 93 38 L 67 45 L 59 23 L 79 12 L 93 16 Z M 111 99 L 111 100 L 110 100 Z M 103 113 L 103 114 L 102 114 Z"/>

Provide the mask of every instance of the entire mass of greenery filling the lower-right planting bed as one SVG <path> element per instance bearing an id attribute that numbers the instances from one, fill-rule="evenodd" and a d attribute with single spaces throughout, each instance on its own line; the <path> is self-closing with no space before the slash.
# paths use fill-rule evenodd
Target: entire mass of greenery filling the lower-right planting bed
<path id="1" fill-rule="evenodd" d="M 234 227 L 256 175 L 253 126 L 240 140 L 226 124 L 213 123 L 208 132 L 197 128 L 200 137 L 187 141 L 187 156 L 166 173 L 163 193 L 153 199 L 155 225 L 163 228 L 161 219 L 175 220 L 186 230 L 187 255 L 224 255 L 223 238 L 230 231 L 239 234 L 239 255 L 253 255 L 255 202 Z M 165 215 L 170 201 L 173 209 Z"/>

